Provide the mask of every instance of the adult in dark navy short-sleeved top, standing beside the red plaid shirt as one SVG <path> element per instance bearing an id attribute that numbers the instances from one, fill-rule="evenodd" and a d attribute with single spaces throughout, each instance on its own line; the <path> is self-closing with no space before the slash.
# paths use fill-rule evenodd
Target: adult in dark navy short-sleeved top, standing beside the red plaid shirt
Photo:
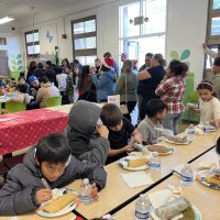
<path id="1" fill-rule="evenodd" d="M 145 108 L 147 101 L 151 99 L 158 99 L 160 97 L 155 94 L 156 87 L 160 85 L 161 80 L 164 78 L 166 70 L 164 66 L 166 65 L 166 61 L 164 59 L 162 54 L 154 54 L 151 59 L 151 67 L 146 68 L 142 72 L 139 72 L 138 79 L 139 95 L 142 97 L 140 102 L 140 118 L 143 120 L 145 118 Z"/>

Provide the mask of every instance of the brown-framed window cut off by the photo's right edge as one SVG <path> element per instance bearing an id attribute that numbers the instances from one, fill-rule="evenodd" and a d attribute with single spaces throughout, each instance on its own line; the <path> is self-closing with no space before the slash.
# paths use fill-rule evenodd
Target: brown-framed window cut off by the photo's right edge
<path id="1" fill-rule="evenodd" d="M 220 0 L 209 0 L 209 14 L 207 24 L 207 41 L 208 47 L 217 52 L 220 42 Z M 206 68 L 211 68 L 213 58 L 206 55 Z"/>

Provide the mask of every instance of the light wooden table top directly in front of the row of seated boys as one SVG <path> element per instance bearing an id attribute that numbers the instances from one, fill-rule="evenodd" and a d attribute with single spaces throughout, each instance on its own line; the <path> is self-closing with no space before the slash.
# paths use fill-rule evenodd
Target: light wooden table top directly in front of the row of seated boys
<path id="1" fill-rule="evenodd" d="M 155 182 L 161 180 L 163 177 L 172 174 L 172 167 L 182 163 L 190 162 L 193 158 L 213 146 L 219 134 L 220 131 L 211 132 L 206 135 L 197 135 L 194 142 L 189 145 L 172 145 L 163 142 L 165 145 L 172 145 L 174 147 L 174 153 L 172 155 L 161 157 L 161 172 L 156 173 L 146 169 L 146 174 L 150 174 L 152 179 Z M 132 197 L 138 197 L 138 195 L 143 190 L 148 190 L 150 186 L 130 188 L 120 175 L 129 173 L 129 170 L 119 167 L 118 162 L 107 165 L 106 170 L 108 174 L 107 186 L 102 191 L 100 191 L 98 201 L 92 202 L 89 206 L 81 205 L 76 209 L 77 212 L 87 219 L 101 217 L 108 212 L 111 212 L 113 209 L 123 205 L 123 202 L 127 202 L 129 199 L 134 199 Z M 79 186 L 80 182 L 76 180 L 72 183 L 68 188 L 74 188 L 77 190 L 79 189 Z"/>

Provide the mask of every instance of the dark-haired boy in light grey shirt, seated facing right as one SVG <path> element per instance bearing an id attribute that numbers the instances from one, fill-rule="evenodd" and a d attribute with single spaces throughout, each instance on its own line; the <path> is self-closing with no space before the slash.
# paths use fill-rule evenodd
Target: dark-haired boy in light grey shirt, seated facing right
<path id="1" fill-rule="evenodd" d="M 173 136 L 173 131 L 164 129 L 161 121 L 166 116 L 166 103 L 161 99 L 152 99 L 146 103 L 146 117 L 138 127 L 144 144 L 155 144 L 161 136 Z"/>

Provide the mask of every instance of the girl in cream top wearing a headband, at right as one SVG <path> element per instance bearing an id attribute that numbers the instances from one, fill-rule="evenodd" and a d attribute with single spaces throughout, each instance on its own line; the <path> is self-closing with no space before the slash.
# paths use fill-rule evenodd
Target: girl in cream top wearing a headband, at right
<path id="1" fill-rule="evenodd" d="M 190 110 L 200 113 L 200 124 L 206 124 L 211 120 L 220 119 L 220 101 L 216 98 L 212 82 L 202 80 L 198 87 L 199 108 L 189 107 Z"/>

